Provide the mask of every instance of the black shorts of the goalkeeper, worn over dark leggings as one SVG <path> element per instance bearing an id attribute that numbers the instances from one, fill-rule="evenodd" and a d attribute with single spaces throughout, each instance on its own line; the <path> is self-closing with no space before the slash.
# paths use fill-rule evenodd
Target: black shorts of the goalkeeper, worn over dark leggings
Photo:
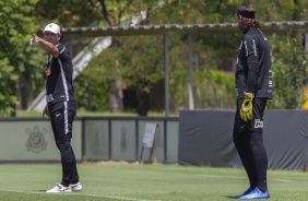
<path id="1" fill-rule="evenodd" d="M 265 109 L 266 98 L 253 98 L 252 119 L 248 121 L 241 120 L 239 113 L 244 98 L 237 99 L 237 107 L 234 120 L 234 133 L 245 131 L 263 132 L 263 114 Z"/>

